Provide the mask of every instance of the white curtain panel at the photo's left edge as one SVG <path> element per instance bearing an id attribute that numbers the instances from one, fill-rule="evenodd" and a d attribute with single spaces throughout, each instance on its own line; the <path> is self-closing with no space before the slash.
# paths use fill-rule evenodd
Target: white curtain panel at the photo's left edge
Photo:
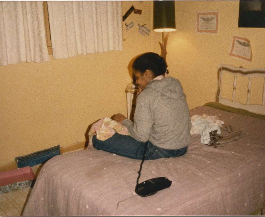
<path id="1" fill-rule="evenodd" d="M 49 61 L 42 2 L 0 2 L 0 65 Z"/>

